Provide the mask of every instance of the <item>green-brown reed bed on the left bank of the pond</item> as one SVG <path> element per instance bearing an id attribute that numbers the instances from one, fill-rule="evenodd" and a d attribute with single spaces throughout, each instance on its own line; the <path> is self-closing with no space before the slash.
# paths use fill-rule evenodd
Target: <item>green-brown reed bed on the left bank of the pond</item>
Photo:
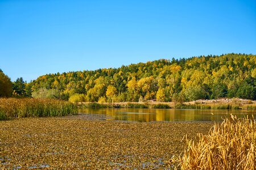
<path id="1" fill-rule="evenodd" d="M 77 106 L 53 99 L 0 99 L 0 120 L 12 117 L 46 117 L 76 114 Z"/>

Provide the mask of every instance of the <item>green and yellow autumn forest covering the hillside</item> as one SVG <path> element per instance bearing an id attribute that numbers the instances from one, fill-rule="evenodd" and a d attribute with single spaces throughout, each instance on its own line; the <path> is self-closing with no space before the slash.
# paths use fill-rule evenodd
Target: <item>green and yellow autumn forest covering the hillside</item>
<path id="1" fill-rule="evenodd" d="M 11 82 L 0 70 L 0 97 L 73 102 L 193 101 L 239 97 L 256 100 L 256 56 L 222 54 L 159 59 L 119 68 L 39 76 Z"/>

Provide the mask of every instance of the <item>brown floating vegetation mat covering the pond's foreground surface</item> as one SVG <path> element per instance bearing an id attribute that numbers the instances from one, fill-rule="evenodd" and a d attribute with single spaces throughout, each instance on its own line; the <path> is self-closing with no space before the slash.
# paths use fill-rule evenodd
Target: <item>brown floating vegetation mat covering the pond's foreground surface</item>
<path id="1" fill-rule="evenodd" d="M 166 169 L 210 123 L 101 121 L 88 114 L 1 121 L 0 169 Z"/>

